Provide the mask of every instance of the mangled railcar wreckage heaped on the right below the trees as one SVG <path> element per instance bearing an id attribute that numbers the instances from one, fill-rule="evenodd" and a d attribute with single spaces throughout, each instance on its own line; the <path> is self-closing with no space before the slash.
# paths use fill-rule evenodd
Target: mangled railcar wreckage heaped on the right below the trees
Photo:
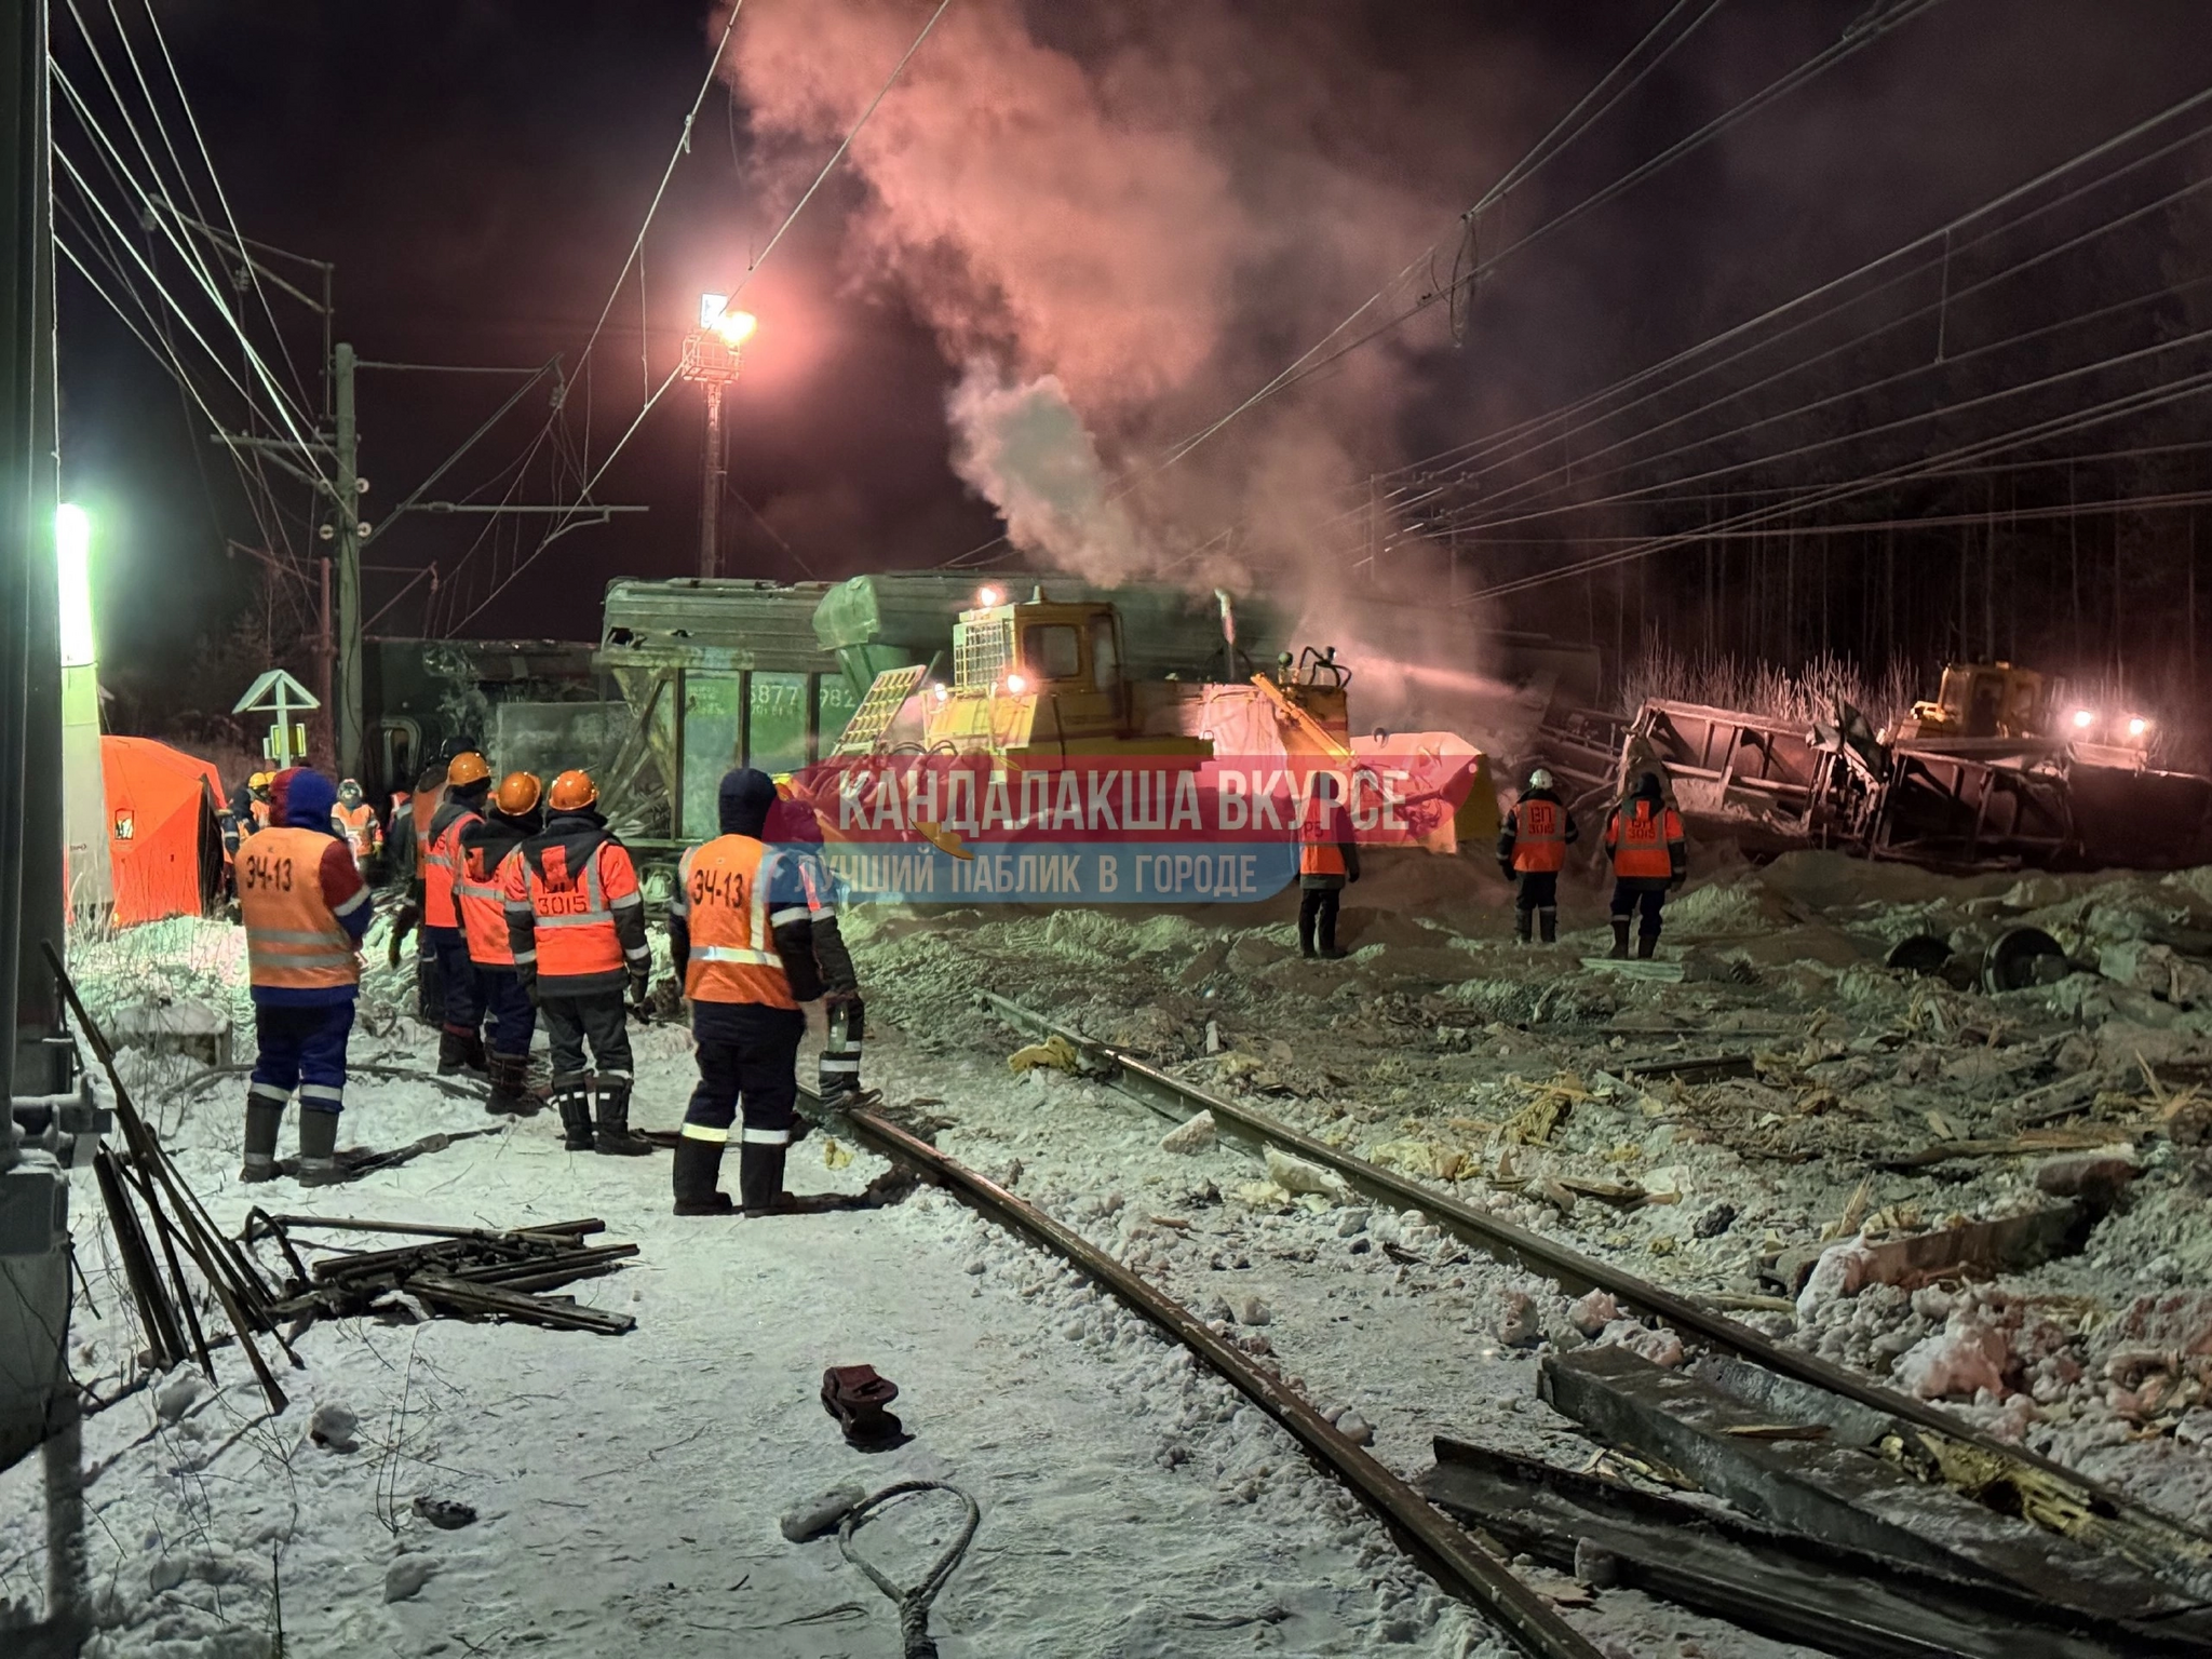
<path id="1" fill-rule="evenodd" d="M 1728 836 L 1754 856 L 1834 847 L 1929 869 L 2212 863 L 2212 779 L 2090 763 L 2046 741 L 1885 743 L 1849 703 L 1834 721 L 1668 699 L 1632 719 L 1573 710 L 1544 723 L 1535 754 L 1586 818 L 1655 770 L 1692 836 Z"/>

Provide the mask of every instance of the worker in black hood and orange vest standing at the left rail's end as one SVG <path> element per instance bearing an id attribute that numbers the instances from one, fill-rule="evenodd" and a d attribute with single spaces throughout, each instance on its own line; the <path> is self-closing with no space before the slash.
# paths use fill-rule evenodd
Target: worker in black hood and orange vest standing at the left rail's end
<path id="1" fill-rule="evenodd" d="M 763 1217 L 796 1208 L 783 1190 L 783 1161 L 803 1133 L 794 1110 L 803 1004 L 827 1002 L 832 1031 L 849 1035 L 841 1053 L 852 1055 L 858 1086 L 860 987 L 821 860 L 805 843 L 765 841 L 774 779 L 752 768 L 726 772 L 717 807 L 721 836 L 684 854 L 668 900 L 668 947 L 699 1051 L 699 1088 L 677 1139 L 675 1210 L 730 1214 L 717 1181 L 743 1102 L 739 1208 Z"/>

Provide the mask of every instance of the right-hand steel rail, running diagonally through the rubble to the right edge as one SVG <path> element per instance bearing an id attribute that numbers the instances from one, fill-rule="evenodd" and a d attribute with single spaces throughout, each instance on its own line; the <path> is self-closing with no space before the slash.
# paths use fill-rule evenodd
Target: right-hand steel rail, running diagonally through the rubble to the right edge
<path id="1" fill-rule="evenodd" d="M 1725 1314 L 1661 1290 L 1648 1279 L 1601 1263 L 1528 1228 L 1502 1221 L 1486 1210 L 1420 1186 L 1396 1170 L 1385 1170 L 1363 1157 L 1316 1141 L 1312 1135 L 1303 1135 L 1265 1113 L 1239 1106 L 1232 1099 L 1223 1099 L 1181 1077 L 1148 1066 L 1113 1044 L 1082 1037 L 1011 998 L 984 991 L 982 1002 L 1018 1031 L 1064 1040 L 1077 1055 L 1091 1062 L 1102 1082 L 1161 1117 L 1183 1121 L 1199 1110 L 1208 1110 L 1214 1115 L 1217 1128 L 1230 1139 L 1248 1146 L 1274 1146 L 1310 1164 L 1318 1164 L 1343 1179 L 1349 1190 L 1376 1203 L 1418 1210 L 1475 1250 L 1542 1274 L 1568 1292 L 1606 1290 L 1617 1301 L 1672 1325 L 1677 1332 L 1694 1334 L 1717 1349 L 1909 1422 L 1913 1429 L 1931 1436 L 1938 1451 L 1944 1444 L 1960 1447 L 1978 1464 L 2002 1471 L 2004 1480 L 1986 1482 L 1991 1486 L 2011 1482 L 2015 1493 L 2057 1493 L 2066 1513 L 2075 1517 L 2077 1537 L 2110 1548 L 2143 1571 L 2172 1582 L 2174 1588 L 2192 1595 L 2212 1595 L 2212 1537 L 2159 1515 L 2110 1486 L 2088 1480 L 2026 1447 L 1993 1440 L 1927 1400 L 1896 1394 L 1814 1354 L 1783 1347 Z"/>

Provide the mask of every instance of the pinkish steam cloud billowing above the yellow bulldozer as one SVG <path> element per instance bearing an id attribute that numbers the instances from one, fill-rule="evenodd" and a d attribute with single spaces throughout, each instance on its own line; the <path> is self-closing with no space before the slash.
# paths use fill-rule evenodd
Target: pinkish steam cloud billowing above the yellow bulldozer
<path id="1" fill-rule="evenodd" d="M 792 195 L 931 11 L 748 0 L 723 73 Z M 1363 531 L 1343 502 L 1398 460 L 1418 334 L 1146 462 L 1334 327 L 1489 168 L 1471 100 L 1409 108 L 1356 13 L 958 0 L 854 139 L 852 276 L 894 285 L 964 365 L 953 465 L 1018 549 L 1106 584 L 1265 580 L 1321 613 L 1343 591 Z"/>

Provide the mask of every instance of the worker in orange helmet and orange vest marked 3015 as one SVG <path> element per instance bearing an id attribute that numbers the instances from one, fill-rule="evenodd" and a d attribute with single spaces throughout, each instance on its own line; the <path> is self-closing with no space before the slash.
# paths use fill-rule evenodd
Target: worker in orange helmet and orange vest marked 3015
<path id="1" fill-rule="evenodd" d="M 546 790 L 546 827 L 504 869 L 507 936 L 515 975 L 538 1002 L 553 1046 L 553 1104 L 571 1152 L 637 1157 L 630 1135 L 628 1002 L 653 975 L 646 896 L 630 852 L 595 810 L 591 772 L 562 772 Z M 584 1071 L 584 1044 L 593 1071 Z M 593 1117 L 597 1115 L 597 1126 Z"/>

